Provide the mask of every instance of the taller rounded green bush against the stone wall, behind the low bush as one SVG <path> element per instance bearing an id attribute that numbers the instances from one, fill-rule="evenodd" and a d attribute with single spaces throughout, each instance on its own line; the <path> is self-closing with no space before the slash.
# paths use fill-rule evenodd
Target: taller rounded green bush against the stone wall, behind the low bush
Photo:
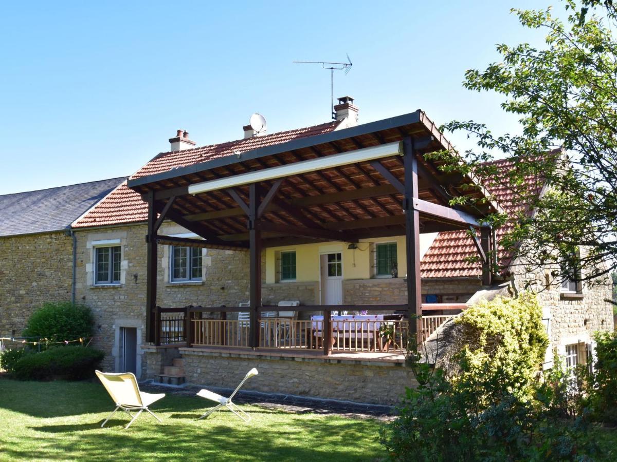
<path id="1" fill-rule="evenodd" d="M 24 336 L 47 339 L 48 343 L 92 336 L 94 319 L 90 309 L 71 302 L 48 302 L 28 319 Z"/>

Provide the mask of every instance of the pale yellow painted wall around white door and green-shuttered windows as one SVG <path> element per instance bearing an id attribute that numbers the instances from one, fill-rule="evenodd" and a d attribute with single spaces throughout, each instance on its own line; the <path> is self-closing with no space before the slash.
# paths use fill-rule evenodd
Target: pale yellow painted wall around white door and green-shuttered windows
<path id="1" fill-rule="evenodd" d="M 279 264 L 277 254 L 281 251 L 296 251 L 296 281 L 319 281 L 320 254 L 342 252 L 343 279 L 369 279 L 375 265 L 375 253 L 371 244 L 396 242 L 399 276 L 407 273 L 405 264 L 405 236 L 372 238 L 360 241 L 355 250 L 347 249 L 347 244 L 340 242 L 320 242 L 296 246 L 270 247 L 266 249 L 266 283 L 278 282 L 276 266 Z"/>

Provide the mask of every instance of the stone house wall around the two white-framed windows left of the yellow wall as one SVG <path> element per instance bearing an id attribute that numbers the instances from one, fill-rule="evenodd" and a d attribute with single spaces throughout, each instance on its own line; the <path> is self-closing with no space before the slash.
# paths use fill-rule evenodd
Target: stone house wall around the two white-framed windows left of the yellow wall
<path id="1" fill-rule="evenodd" d="M 120 367 L 120 327 L 138 328 L 138 337 L 145 339 L 146 321 L 146 258 L 144 237 L 146 225 L 113 227 L 77 231 L 78 301 L 93 309 L 94 346 L 107 356 L 102 367 Z M 162 234 L 186 232 L 177 225 L 164 224 Z M 99 240 L 120 240 L 122 277 L 117 285 L 95 286 L 94 246 Z M 220 307 L 238 306 L 249 299 L 249 254 L 225 250 L 204 249 L 201 282 L 169 282 L 169 248 L 158 246 L 157 304 L 162 307 L 186 305 Z M 70 277 L 67 279 L 70 285 Z M 138 364 L 145 363 L 138 347 Z"/>

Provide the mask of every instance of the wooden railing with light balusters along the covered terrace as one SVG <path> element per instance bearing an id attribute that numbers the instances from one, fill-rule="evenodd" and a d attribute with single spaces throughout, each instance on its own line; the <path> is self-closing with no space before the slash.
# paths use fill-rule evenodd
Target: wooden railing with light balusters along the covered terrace
<path id="1" fill-rule="evenodd" d="M 362 306 L 357 306 L 360 308 Z M 397 306 L 398 307 L 398 306 Z M 450 307 L 450 306 L 449 306 Z M 328 317 L 319 320 L 266 317 L 261 312 L 275 307 L 262 307 L 257 333 L 257 346 L 274 349 L 323 349 L 353 352 L 404 352 L 407 349 L 407 320 L 386 316 L 386 320 L 339 320 Z M 329 313 L 334 307 L 294 307 L 296 312 L 318 308 Z M 371 306 L 371 309 L 376 309 Z M 451 308 L 450 308 L 451 309 Z M 250 347 L 249 320 L 227 319 L 232 312 L 246 312 L 246 307 L 184 307 L 160 308 L 155 312 L 159 325 L 157 344 L 184 343 L 187 346 Z M 433 306 L 428 312 L 435 310 Z M 218 312 L 218 318 L 204 318 Z M 454 315 L 423 315 L 423 339 L 430 338 Z M 231 316 L 230 316 L 231 317 Z M 234 316 L 235 317 L 235 316 Z M 418 326 L 420 328 L 420 326 Z"/>

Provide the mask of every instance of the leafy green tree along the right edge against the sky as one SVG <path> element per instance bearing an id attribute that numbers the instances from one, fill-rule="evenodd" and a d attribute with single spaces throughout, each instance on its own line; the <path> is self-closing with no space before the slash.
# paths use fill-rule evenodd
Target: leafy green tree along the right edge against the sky
<path id="1" fill-rule="evenodd" d="M 503 95 L 520 116 L 521 134 L 493 134 L 486 124 L 452 121 L 476 139 L 462 168 L 484 184 L 507 184 L 518 201 L 500 245 L 525 269 L 552 267 L 552 282 L 604 283 L 617 267 L 617 9 L 611 0 L 565 0 L 565 22 L 552 10 L 511 10 L 521 24 L 547 31 L 542 49 L 500 44 L 502 62 L 468 70 L 463 86 Z M 503 158 L 494 160 L 495 153 Z M 439 153 L 442 159 L 449 153 Z M 521 246 L 520 243 L 525 245 Z"/>

